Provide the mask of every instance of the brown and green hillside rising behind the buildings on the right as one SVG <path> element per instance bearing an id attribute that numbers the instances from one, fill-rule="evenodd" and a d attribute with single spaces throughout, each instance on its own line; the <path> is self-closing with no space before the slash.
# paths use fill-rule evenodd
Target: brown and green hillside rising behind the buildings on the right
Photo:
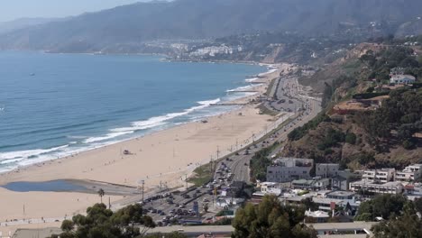
<path id="1" fill-rule="evenodd" d="M 419 78 L 419 83 L 389 89 L 388 74 L 396 67 Z M 399 169 L 422 162 L 417 135 L 422 133 L 422 60 L 417 61 L 414 50 L 364 43 L 306 79 L 316 85 L 321 78 L 326 110 L 289 134 L 284 156 L 350 169 Z"/>

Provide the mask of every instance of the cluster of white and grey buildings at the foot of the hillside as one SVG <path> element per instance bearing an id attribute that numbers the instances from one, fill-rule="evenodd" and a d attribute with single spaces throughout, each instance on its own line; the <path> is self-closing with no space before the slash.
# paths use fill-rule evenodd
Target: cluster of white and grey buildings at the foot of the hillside
<path id="1" fill-rule="evenodd" d="M 353 221 L 362 199 L 372 195 L 422 197 L 422 186 L 417 183 L 419 178 L 422 178 L 422 164 L 409 165 L 403 170 L 387 168 L 351 172 L 340 169 L 335 163 L 314 164 L 310 159 L 280 158 L 267 168 L 267 181 L 259 184 L 261 190 L 252 195 L 252 201 L 259 202 L 267 194 L 289 204 L 310 199 L 318 209 L 307 211 L 306 215 L 315 222 L 326 222 L 330 217 L 347 222 Z M 339 207 L 343 209 L 336 209 Z"/>

